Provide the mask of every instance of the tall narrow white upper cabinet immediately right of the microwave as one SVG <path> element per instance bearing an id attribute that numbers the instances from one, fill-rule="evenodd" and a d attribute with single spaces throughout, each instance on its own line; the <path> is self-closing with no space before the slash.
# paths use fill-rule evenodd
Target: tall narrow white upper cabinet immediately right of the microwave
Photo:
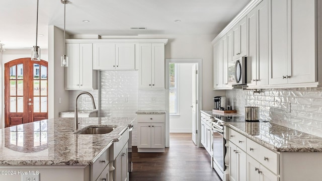
<path id="1" fill-rule="evenodd" d="M 268 0 L 247 15 L 248 85 L 268 85 Z"/>

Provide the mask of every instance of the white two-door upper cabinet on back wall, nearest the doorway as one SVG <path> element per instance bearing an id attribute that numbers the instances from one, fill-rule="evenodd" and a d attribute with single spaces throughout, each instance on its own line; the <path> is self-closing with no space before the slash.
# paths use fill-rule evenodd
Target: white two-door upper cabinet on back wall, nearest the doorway
<path id="1" fill-rule="evenodd" d="M 140 43 L 139 88 L 165 89 L 165 44 Z"/>

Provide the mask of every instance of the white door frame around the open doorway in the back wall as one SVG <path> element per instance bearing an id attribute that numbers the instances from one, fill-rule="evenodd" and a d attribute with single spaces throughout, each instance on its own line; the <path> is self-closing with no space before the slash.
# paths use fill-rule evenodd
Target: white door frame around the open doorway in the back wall
<path id="1" fill-rule="evenodd" d="M 170 147 L 170 116 L 169 116 L 169 63 L 196 63 L 198 67 L 197 84 L 197 140 L 196 145 L 203 147 L 200 143 L 200 110 L 202 109 L 202 59 L 194 58 L 166 58 L 166 147 Z"/>

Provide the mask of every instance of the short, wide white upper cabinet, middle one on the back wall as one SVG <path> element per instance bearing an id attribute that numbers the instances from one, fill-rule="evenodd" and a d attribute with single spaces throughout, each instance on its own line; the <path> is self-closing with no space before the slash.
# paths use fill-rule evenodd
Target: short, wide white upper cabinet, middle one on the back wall
<path id="1" fill-rule="evenodd" d="M 134 43 L 94 43 L 96 70 L 134 70 Z"/>

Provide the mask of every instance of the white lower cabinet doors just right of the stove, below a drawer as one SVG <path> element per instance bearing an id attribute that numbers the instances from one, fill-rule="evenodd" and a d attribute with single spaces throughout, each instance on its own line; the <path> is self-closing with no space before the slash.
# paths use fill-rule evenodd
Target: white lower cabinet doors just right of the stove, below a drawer
<path id="1" fill-rule="evenodd" d="M 246 152 L 229 141 L 229 180 L 246 181 Z"/>

